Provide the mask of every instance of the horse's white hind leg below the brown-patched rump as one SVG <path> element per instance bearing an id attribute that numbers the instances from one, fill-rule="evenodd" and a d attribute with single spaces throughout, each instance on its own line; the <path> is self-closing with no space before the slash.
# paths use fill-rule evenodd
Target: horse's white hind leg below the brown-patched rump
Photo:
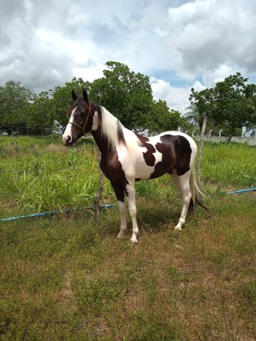
<path id="1" fill-rule="evenodd" d="M 190 176 L 191 171 L 186 172 L 183 175 L 177 175 L 176 172 L 171 174 L 171 179 L 174 182 L 174 185 L 178 188 L 182 195 L 182 210 L 181 217 L 178 220 L 178 224 L 176 224 L 175 229 L 182 230 L 183 224 L 186 222 L 186 215 L 188 213 L 188 207 L 191 202 L 191 186 L 190 186 Z"/>

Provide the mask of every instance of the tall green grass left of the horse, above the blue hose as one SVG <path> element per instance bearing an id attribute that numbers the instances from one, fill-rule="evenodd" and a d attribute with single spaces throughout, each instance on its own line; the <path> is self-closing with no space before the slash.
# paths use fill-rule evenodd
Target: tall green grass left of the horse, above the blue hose
<path id="1" fill-rule="evenodd" d="M 68 149 L 60 141 L 44 145 L 39 140 L 35 146 L 36 140 L 30 139 L 1 144 L 0 200 L 4 205 L 22 212 L 91 205 L 99 178 L 91 143 Z M 107 181 L 104 195 L 111 195 Z"/>

